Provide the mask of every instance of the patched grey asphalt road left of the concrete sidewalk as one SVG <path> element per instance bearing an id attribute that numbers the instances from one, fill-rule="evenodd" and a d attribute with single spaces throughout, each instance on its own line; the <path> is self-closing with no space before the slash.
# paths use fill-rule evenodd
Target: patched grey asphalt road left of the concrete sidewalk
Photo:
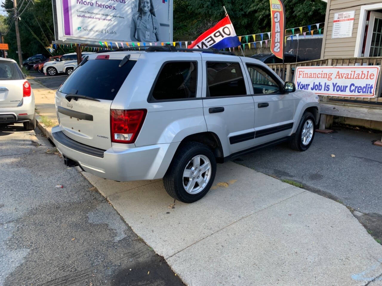
<path id="1" fill-rule="evenodd" d="M 0 286 L 183 285 L 54 153 L 22 124 L 0 126 Z"/>

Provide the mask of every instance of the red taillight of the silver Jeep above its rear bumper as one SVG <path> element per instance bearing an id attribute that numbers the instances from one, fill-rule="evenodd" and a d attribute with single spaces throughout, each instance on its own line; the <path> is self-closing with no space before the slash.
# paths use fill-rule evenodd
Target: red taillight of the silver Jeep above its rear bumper
<path id="1" fill-rule="evenodd" d="M 112 142 L 125 144 L 134 143 L 141 130 L 146 113 L 146 109 L 111 109 L 110 132 Z"/>

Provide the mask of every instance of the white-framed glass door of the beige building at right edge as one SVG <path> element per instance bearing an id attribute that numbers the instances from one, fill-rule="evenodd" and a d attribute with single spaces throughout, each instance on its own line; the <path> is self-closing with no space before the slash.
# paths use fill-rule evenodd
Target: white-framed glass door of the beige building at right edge
<path id="1" fill-rule="evenodd" d="M 370 13 L 365 56 L 382 56 L 382 13 Z"/>

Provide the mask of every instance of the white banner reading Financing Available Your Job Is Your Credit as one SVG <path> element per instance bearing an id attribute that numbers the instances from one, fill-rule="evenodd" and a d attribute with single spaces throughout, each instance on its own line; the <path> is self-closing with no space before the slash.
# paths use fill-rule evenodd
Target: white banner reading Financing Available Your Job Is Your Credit
<path id="1" fill-rule="evenodd" d="M 297 89 L 317 95 L 375 97 L 380 66 L 297 67 Z"/>

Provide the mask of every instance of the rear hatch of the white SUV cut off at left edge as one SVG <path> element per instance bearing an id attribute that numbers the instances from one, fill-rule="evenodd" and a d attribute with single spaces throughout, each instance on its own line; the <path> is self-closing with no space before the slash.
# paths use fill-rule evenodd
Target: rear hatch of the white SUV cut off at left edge
<path id="1" fill-rule="evenodd" d="M 16 63 L 0 60 L 0 108 L 21 104 L 25 81 Z"/>

